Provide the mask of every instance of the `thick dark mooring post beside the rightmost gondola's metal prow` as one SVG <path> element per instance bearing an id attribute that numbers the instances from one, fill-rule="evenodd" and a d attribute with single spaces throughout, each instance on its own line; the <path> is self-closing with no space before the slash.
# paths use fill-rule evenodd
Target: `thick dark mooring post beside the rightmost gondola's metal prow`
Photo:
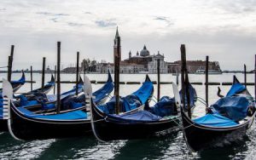
<path id="1" fill-rule="evenodd" d="M 188 105 L 188 116 L 189 118 L 191 118 L 191 108 L 190 108 L 190 103 L 189 103 L 189 93 L 187 93 L 187 91 L 189 91 L 189 85 L 188 85 L 188 82 L 189 82 L 189 79 L 188 79 L 188 71 L 187 71 L 187 64 L 186 64 L 186 48 L 185 48 L 185 44 L 182 44 L 181 47 L 180 47 L 180 51 L 181 51 L 181 61 L 182 61 L 182 67 L 181 67 L 181 83 L 182 83 L 182 100 L 183 100 L 183 108 L 185 108 L 186 106 L 186 98 L 185 96 L 187 97 L 187 105 Z M 186 74 L 186 82 L 187 84 L 185 83 L 185 74 Z"/>

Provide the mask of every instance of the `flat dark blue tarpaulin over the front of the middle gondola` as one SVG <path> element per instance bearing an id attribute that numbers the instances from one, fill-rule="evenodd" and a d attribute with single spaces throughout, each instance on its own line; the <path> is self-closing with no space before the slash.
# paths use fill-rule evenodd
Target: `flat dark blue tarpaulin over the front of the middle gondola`
<path id="1" fill-rule="evenodd" d="M 152 114 L 149 111 L 136 111 L 134 113 L 128 113 L 124 115 L 111 115 L 113 117 L 119 117 L 121 119 L 125 120 L 133 120 L 133 121 L 159 121 L 160 118 L 159 116 L 156 116 Z"/>

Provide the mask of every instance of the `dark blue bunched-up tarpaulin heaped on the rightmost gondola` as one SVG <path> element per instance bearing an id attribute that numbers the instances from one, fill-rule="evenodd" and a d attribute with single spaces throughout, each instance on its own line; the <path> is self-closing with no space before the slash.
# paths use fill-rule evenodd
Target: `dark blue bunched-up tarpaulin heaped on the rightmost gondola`
<path id="1" fill-rule="evenodd" d="M 224 97 L 211 106 L 213 112 L 232 120 L 240 121 L 247 117 L 249 101 L 243 96 Z"/>

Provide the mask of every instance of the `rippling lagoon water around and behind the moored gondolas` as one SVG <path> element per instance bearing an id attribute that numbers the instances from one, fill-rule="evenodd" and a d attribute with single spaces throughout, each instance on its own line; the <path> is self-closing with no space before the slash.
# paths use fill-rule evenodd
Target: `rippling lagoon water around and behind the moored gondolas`
<path id="1" fill-rule="evenodd" d="M 20 77 L 20 73 L 13 74 L 12 79 Z M 91 80 L 106 81 L 108 75 L 88 74 Z M 238 79 L 243 82 L 243 74 L 236 74 Z M 0 74 L 0 77 L 6 77 L 6 74 Z M 157 79 L 155 74 L 150 74 L 151 80 Z M 143 82 L 143 74 L 121 74 L 120 81 Z M 176 77 L 172 74 L 161 75 L 162 82 L 176 82 Z M 247 82 L 253 83 L 254 75 L 247 75 Z M 30 75 L 26 74 L 26 79 Z M 33 89 L 38 89 L 41 85 L 41 75 L 33 74 Z M 50 79 L 47 74 L 45 81 Z M 232 82 L 233 74 L 210 75 L 209 82 Z M 75 80 L 74 74 L 61 74 L 61 80 Z M 204 83 L 204 75 L 189 75 L 190 82 Z M 73 88 L 74 84 L 61 84 L 61 91 L 67 91 Z M 0 84 L 2 86 L 2 84 Z M 93 90 L 102 87 L 102 84 L 92 84 Z M 131 94 L 138 89 L 140 85 L 120 85 L 120 94 Z M 180 87 L 180 85 L 179 85 Z M 205 99 L 204 85 L 194 85 L 198 96 Z M 209 86 L 209 104 L 218 100 L 218 86 Z M 222 94 L 226 94 L 230 86 L 220 86 Z M 156 85 L 154 86 L 156 96 Z M 254 87 L 248 86 L 247 89 L 254 94 Z M 30 83 L 26 83 L 18 92 L 23 93 L 30 90 Z M 52 94 L 53 92 L 49 93 Z M 161 95 L 172 96 L 172 84 L 161 84 Z M 154 105 L 154 102 L 151 102 Z M 205 107 L 196 103 L 195 117 L 204 114 Z M 49 131 L 50 132 L 50 131 Z M 256 158 L 256 131 L 252 129 L 248 136 L 236 144 L 219 147 L 209 151 L 201 151 L 196 154 L 189 153 L 183 140 L 182 132 L 168 135 L 161 138 L 152 138 L 146 140 L 117 140 L 108 143 L 97 141 L 93 136 L 84 138 L 73 138 L 63 140 L 32 140 L 17 141 L 8 133 L 0 133 L 0 159 L 254 159 Z"/>

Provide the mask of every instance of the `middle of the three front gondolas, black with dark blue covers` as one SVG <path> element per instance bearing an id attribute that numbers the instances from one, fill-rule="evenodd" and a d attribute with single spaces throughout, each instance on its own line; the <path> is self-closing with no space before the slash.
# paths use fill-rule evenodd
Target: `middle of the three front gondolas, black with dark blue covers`
<path id="1" fill-rule="evenodd" d="M 195 89 L 190 85 L 190 105 L 195 106 Z M 169 134 L 177 131 L 180 116 L 176 99 L 164 96 L 153 107 L 132 111 L 125 114 L 107 114 L 91 102 L 91 125 L 93 133 L 100 141 L 145 139 L 155 135 Z M 180 102 L 179 102 L 180 103 Z"/>

